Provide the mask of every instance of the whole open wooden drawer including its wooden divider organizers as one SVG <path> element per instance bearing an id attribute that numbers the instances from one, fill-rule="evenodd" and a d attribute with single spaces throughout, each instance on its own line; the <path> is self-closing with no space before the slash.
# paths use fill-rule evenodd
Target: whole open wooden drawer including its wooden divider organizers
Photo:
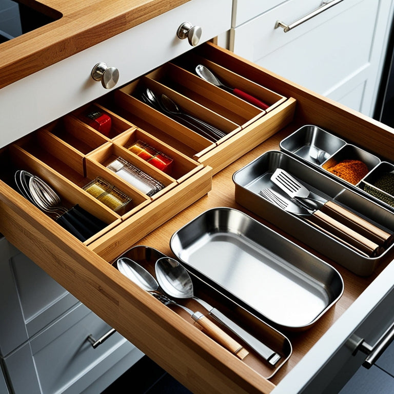
<path id="1" fill-rule="evenodd" d="M 282 368 L 268 380 L 259 373 L 259 366 L 248 365 L 209 339 L 193 327 L 190 320 L 174 313 L 131 283 L 111 263 L 137 243 L 172 255 L 169 247 L 171 235 L 203 211 L 220 206 L 240 209 L 234 201 L 233 172 L 265 151 L 278 149 L 280 141 L 301 125 L 316 124 L 334 130 L 338 135 L 346 136 L 348 141 L 357 141 L 359 146 L 379 151 L 387 160 L 394 160 L 394 137 L 390 128 L 306 91 L 213 44 L 197 47 L 191 54 L 163 67 L 182 67 L 186 56 L 201 56 L 216 64 L 218 70 L 219 66 L 223 67 L 235 76 L 242 76 L 264 87 L 261 99 L 269 100 L 271 97 L 272 108 L 264 112 L 256 111 L 249 104 L 242 103 L 243 109 L 250 111 L 250 119 L 243 115 L 243 121 L 229 120 L 216 112 L 219 109 L 210 110 L 205 106 L 206 93 L 200 94 L 201 103 L 197 96 L 189 102 L 184 95 L 186 91 L 178 92 L 174 85 L 162 78 L 161 69 L 154 70 L 94 103 L 116 119 L 119 131 L 114 135 L 103 136 L 83 125 L 79 117 L 81 113 L 76 111 L 6 147 L 2 152 L 4 168 L 11 168 L 11 161 L 14 164 L 23 163 L 31 171 L 39 171 L 38 174 L 47 181 L 53 180 L 56 186 L 67 190 L 67 200 L 75 198 L 75 202 L 106 221 L 108 227 L 84 243 L 78 241 L 62 227 L 55 226 L 52 219 L 11 187 L 13 172 L 10 170 L 0 182 L 0 231 L 75 297 L 193 392 L 268 393 L 346 313 L 349 305 L 373 281 L 372 276 L 360 278 L 329 262 L 344 279 L 341 299 L 309 330 L 302 334 L 285 333 L 293 352 Z M 191 79 L 195 80 L 194 76 Z M 189 110 L 193 109 L 194 115 L 204 114 L 206 120 L 217 127 L 226 123 L 228 136 L 214 143 L 204 141 L 190 133 L 184 125 L 138 100 L 133 89 L 140 81 L 146 80 L 151 87 L 157 86 L 161 92 L 171 93 Z M 191 85 L 185 83 L 185 87 L 190 88 Z M 212 89 L 212 94 L 219 94 L 216 90 L 219 88 L 205 88 Z M 230 100 L 225 91 L 221 94 L 225 93 L 230 103 L 233 97 Z M 88 132 L 73 136 L 64 134 L 67 122 L 73 122 L 76 127 Z M 160 126 L 167 132 L 159 133 Z M 81 135 L 87 134 L 92 136 L 91 140 L 83 144 L 78 142 L 79 147 L 75 148 L 75 138 L 80 140 Z M 66 139 L 65 135 L 70 139 Z M 182 170 L 172 176 L 157 172 L 151 164 L 130 152 L 128 145 L 142 136 L 149 137 L 152 145 L 157 144 L 155 147 L 169 156 L 173 154 L 174 159 L 182 163 Z M 33 139 L 34 143 L 30 143 L 29 139 Z M 93 143 L 93 140 L 96 142 Z M 86 144 L 88 148 L 85 151 L 83 147 Z M 48 159 L 57 145 L 60 150 Z M 47 153 L 41 155 L 43 151 Z M 94 201 L 82 187 L 97 174 L 109 176 L 106 165 L 116 159 L 120 152 L 151 175 L 160 177 L 165 186 L 155 198 L 154 195 L 141 195 L 139 191 L 126 187 L 123 180 L 111 176 L 110 180 L 117 188 L 125 193 L 134 193 L 132 196 L 140 202 L 124 214 L 113 213 L 104 204 Z M 58 161 L 63 164 L 56 167 Z M 65 167 L 67 172 L 63 172 Z M 213 179 L 211 168 L 215 172 Z M 204 198 L 200 199 L 201 196 Z M 257 216 L 253 217 L 259 220 Z M 310 251 L 313 252 L 312 249 Z M 382 261 L 375 274 L 379 274 L 388 263 Z M 239 319 L 242 322 L 242 317 Z"/>

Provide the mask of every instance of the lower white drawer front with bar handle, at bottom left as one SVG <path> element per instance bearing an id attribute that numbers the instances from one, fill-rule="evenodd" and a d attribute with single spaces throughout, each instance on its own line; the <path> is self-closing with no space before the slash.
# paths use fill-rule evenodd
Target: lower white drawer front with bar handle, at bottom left
<path id="1" fill-rule="evenodd" d="M 79 304 L 4 359 L 13 392 L 82 392 L 128 353 L 134 361 L 143 356 L 119 333 L 93 348 L 87 338 L 100 338 L 109 329 Z"/>

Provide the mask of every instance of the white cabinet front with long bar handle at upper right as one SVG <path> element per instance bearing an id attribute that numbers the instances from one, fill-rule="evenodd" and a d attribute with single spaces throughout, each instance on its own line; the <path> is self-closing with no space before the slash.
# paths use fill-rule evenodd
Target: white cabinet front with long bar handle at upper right
<path id="1" fill-rule="evenodd" d="M 346 0 L 284 32 L 318 9 L 321 0 L 288 0 L 263 12 L 238 0 L 230 49 L 264 68 L 371 116 L 375 106 L 391 0 Z M 253 3 L 253 2 L 252 2 Z M 261 3 L 261 2 L 260 2 Z M 253 3 L 254 4 L 254 3 Z M 255 17 L 245 14 L 254 10 Z M 258 12 L 261 12 L 258 14 Z M 249 20 L 245 20 L 249 17 Z"/>

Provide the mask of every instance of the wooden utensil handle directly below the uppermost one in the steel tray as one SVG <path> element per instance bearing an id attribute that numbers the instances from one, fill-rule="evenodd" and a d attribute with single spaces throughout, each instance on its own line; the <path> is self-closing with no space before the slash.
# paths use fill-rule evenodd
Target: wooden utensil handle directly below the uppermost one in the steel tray
<path id="1" fill-rule="evenodd" d="M 372 242 L 368 238 L 345 226 L 343 223 L 331 218 L 331 216 L 328 216 L 320 210 L 314 211 L 312 217 L 317 218 L 321 227 L 368 254 L 369 257 L 374 257 L 384 250 L 375 242 Z"/>

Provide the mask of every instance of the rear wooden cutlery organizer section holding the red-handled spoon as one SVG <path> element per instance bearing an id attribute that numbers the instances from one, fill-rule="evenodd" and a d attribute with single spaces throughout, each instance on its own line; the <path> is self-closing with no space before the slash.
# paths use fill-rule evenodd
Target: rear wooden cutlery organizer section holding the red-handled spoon
<path id="1" fill-rule="evenodd" d="M 295 100 L 253 82 L 253 66 L 244 64 L 238 70 L 237 62 L 228 61 L 213 48 L 205 43 L 104 96 L 100 103 L 216 173 L 290 123 Z M 220 80 L 242 88 L 269 107 L 262 110 L 203 80 L 193 71 L 198 64 L 206 65 Z M 141 93 L 147 88 L 157 97 L 168 96 L 183 112 L 222 130 L 225 136 L 210 141 L 176 117 L 146 104 Z"/>

